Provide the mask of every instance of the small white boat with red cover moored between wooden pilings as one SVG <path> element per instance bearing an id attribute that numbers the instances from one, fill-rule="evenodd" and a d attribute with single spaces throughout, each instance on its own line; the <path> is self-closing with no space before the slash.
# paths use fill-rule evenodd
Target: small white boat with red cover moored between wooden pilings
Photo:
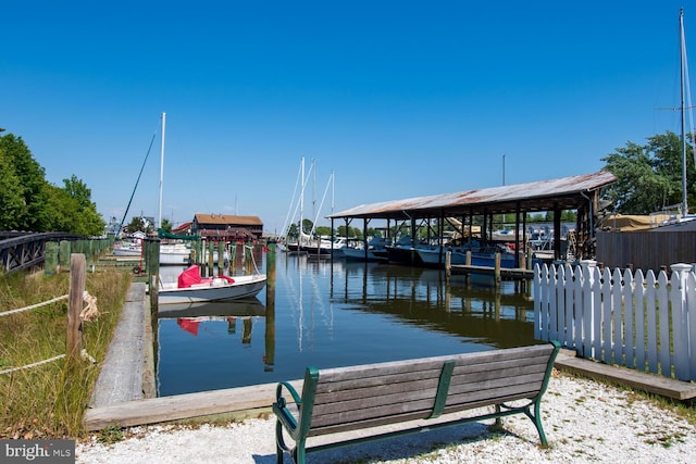
<path id="1" fill-rule="evenodd" d="M 198 266 L 186 268 L 176 283 L 160 283 L 159 304 L 227 301 L 256 297 L 265 286 L 265 274 L 201 278 Z"/>

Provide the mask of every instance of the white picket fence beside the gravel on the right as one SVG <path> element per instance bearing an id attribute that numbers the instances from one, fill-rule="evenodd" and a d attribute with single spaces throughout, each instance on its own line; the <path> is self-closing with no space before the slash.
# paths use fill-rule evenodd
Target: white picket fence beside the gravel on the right
<path id="1" fill-rule="evenodd" d="M 674 264 L 652 271 L 536 266 L 534 335 L 580 356 L 680 380 L 696 380 L 696 276 Z"/>

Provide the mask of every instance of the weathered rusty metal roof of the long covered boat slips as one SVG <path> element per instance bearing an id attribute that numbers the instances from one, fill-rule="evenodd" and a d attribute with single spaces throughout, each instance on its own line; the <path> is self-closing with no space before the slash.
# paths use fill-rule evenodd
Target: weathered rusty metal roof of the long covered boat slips
<path id="1" fill-rule="evenodd" d="M 579 176 L 537 180 L 527 184 L 490 187 L 455 193 L 433 195 L 406 200 L 361 204 L 326 217 L 335 218 L 390 218 L 435 217 L 440 214 L 459 216 L 468 214 L 505 214 L 551 211 L 555 208 L 573 210 L 589 201 L 587 195 L 605 187 L 617 178 L 607 171 Z"/>

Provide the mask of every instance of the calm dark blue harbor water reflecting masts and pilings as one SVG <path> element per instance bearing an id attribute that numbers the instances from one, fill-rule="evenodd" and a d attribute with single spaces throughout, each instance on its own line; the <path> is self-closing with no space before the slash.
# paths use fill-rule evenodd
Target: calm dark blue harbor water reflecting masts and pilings
<path id="1" fill-rule="evenodd" d="M 257 252 L 264 272 L 265 254 Z M 181 268 L 162 268 L 162 279 Z M 234 275 L 235 271 L 231 272 Z M 302 378 L 335 367 L 534 343 L 533 305 L 513 283 L 409 266 L 276 254 L 275 304 L 211 303 L 159 317 L 160 396 Z"/>

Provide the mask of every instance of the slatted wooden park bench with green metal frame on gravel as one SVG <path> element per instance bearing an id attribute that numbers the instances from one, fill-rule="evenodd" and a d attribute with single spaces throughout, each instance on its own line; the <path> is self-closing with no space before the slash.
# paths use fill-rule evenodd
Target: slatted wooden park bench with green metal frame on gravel
<path id="1" fill-rule="evenodd" d="M 308 367 L 301 397 L 288 383 L 276 388 L 273 412 L 277 418 L 277 463 L 283 462 L 284 452 L 300 464 L 313 451 L 465 422 L 495 418 L 499 424 L 501 417 L 520 413 L 532 419 L 542 444 L 546 446 L 539 407 L 559 349 L 559 343 L 551 341 L 321 371 Z M 291 397 L 289 403 L 283 397 L 284 390 Z M 527 401 L 509 404 L 515 400 Z M 455 414 L 492 405 L 473 417 Z M 307 447 L 309 437 L 435 418 L 439 418 L 436 424 L 425 421 L 425 426 L 375 435 L 362 432 L 360 438 L 352 439 L 335 436 L 336 440 L 328 443 Z M 284 435 L 295 444 L 288 446 Z"/>

